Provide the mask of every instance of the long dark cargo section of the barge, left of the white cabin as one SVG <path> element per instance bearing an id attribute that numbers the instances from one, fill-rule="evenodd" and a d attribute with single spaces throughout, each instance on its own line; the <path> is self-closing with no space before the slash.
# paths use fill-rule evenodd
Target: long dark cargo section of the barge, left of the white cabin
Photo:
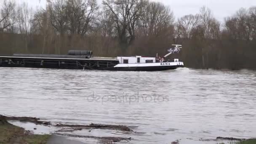
<path id="1" fill-rule="evenodd" d="M 0 56 L 0 67 L 30 67 L 48 69 L 91 69 L 105 70 L 119 64 L 109 59 L 63 59 Z"/>

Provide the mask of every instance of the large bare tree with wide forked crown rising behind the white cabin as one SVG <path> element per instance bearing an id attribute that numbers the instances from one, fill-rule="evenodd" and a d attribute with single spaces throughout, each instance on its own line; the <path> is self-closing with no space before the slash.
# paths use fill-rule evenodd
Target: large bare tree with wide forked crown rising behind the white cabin
<path id="1" fill-rule="evenodd" d="M 103 0 L 102 4 L 115 20 L 115 29 L 120 43 L 131 44 L 136 37 L 136 23 L 144 0 Z"/>

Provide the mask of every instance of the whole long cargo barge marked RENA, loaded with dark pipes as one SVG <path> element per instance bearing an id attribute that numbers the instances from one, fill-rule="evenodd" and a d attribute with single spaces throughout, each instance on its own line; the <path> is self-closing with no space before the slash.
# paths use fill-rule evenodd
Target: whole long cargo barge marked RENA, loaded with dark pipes
<path id="1" fill-rule="evenodd" d="M 92 51 L 68 52 L 68 55 L 48 54 L 13 54 L 0 56 L 0 67 L 30 67 L 50 69 L 82 69 L 110 71 L 162 71 L 184 67 L 179 59 L 166 60 L 173 54 L 179 53 L 182 46 L 173 45 L 169 53 L 163 57 L 118 56 L 117 58 L 95 57 Z"/>

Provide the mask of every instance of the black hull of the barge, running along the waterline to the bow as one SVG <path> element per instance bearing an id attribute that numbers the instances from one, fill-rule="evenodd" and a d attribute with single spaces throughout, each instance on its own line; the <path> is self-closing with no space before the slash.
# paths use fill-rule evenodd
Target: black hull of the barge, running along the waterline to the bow
<path id="1" fill-rule="evenodd" d="M 183 65 L 155 67 L 115 67 L 117 64 L 119 64 L 119 61 L 114 59 L 65 59 L 0 56 L 0 67 L 29 67 L 109 71 L 162 71 L 183 67 Z"/>

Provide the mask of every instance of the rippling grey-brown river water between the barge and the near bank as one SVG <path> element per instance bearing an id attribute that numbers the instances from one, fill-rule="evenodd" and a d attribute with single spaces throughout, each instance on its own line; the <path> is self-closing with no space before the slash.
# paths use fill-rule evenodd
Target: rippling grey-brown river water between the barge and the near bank
<path id="1" fill-rule="evenodd" d="M 128 144 L 256 137 L 256 71 L 108 72 L 0 68 L 0 114 L 139 126 Z M 80 132 L 81 133 L 81 132 Z"/>

